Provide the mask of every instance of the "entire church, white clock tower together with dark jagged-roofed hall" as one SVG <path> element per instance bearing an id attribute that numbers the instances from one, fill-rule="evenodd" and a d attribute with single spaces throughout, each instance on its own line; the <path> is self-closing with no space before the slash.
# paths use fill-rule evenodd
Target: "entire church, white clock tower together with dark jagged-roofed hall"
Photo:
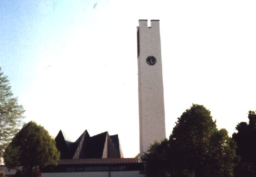
<path id="1" fill-rule="evenodd" d="M 148 26 L 148 20 L 139 20 L 137 27 L 140 155 L 147 152 L 150 144 L 166 138 L 159 23 L 151 20 Z M 43 168 L 42 177 L 144 176 L 139 173 L 143 163 L 138 158 L 123 157 L 117 134 L 90 136 L 85 130 L 73 142 L 60 130 L 55 141 L 61 158 L 57 166 Z M 15 173 L 6 167 L 0 169 L 9 177 Z"/>

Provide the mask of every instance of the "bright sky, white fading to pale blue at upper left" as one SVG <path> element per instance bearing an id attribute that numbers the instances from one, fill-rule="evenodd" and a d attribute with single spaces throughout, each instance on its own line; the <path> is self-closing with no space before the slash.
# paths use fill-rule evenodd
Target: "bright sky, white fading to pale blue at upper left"
<path id="1" fill-rule="evenodd" d="M 0 66 L 56 136 L 118 134 L 139 153 L 139 19 L 160 20 L 166 137 L 203 104 L 230 136 L 256 110 L 255 0 L 1 0 Z"/>

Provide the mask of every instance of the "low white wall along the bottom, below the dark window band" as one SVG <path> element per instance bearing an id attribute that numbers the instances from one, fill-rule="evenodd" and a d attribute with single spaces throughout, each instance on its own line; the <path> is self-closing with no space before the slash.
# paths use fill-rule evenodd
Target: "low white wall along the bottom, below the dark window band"
<path id="1" fill-rule="evenodd" d="M 42 173 L 42 177 L 144 177 L 139 171 Z"/>

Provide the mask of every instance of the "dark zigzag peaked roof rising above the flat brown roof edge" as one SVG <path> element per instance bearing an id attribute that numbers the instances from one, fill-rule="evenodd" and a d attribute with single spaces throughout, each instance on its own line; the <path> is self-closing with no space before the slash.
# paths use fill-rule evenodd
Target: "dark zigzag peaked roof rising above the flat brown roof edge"
<path id="1" fill-rule="evenodd" d="M 122 158 L 118 135 L 110 136 L 103 132 L 90 136 L 85 130 L 72 142 L 61 130 L 57 134 L 56 147 L 61 152 L 61 159 Z"/>

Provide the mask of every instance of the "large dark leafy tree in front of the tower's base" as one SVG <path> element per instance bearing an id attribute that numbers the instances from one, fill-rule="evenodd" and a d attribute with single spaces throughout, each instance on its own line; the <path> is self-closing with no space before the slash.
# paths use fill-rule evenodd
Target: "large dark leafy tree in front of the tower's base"
<path id="1" fill-rule="evenodd" d="M 161 174 L 158 176 L 233 177 L 238 160 L 235 149 L 228 132 L 217 130 L 210 111 L 193 104 L 178 118 L 169 140 L 152 145 L 143 155 L 143 173 L 156 176 L 148 173 L 149 167 Z M 154 160 L 160 160 L 161 166 L 152 165 Z"/>

